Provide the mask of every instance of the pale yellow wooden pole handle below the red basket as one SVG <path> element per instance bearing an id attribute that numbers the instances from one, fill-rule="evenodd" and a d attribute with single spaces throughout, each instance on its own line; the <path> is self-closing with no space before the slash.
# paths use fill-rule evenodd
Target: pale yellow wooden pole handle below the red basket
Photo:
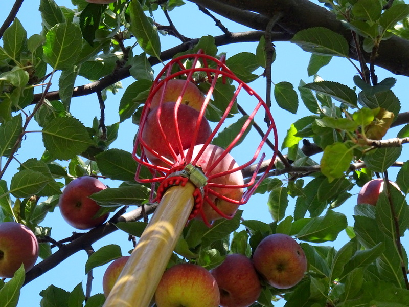
<path id="1" fill-rule="evenodd" d="M 195 186 L 169 188 L 103 307 L 148 307 L 193 209 Z"/>

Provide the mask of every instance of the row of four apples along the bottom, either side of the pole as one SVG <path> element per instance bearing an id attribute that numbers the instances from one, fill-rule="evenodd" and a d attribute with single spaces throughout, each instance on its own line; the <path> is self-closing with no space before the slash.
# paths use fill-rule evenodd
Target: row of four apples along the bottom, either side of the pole
<path id="1" fill-rule="evenodd" d="M 113 288 L 129 256 L 108 266 L 103 277 L 105 297 Z M 259 298 L 262 283 L 288 289 L 303 279 L 307 260 L 292 237 L 276 233 L 265 237 L 250 259 L 229 254 L 211 271 L 198 265 L 177 264 L 165 271 L 151 306 L 157 307 L 248 307 Z"/>

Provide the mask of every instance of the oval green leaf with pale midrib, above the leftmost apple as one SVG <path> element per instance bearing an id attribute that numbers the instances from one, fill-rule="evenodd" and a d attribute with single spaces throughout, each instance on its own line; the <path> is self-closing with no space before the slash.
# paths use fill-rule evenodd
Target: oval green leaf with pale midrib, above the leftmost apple
<path id="1" fill-rule="evenodd" d="M 16 198 L 26 198 L 40 192 L 50 178 L 39 171 L 25 169 L 17 172 L 10 183 L 10 193 Z"/>

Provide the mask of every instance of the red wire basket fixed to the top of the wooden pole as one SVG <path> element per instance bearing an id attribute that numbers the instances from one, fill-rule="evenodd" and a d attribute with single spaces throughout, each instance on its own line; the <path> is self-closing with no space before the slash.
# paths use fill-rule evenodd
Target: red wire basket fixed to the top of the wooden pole
<path id="1" fill-rule="evenodd" d="M 173 79 L 181 79 L 184 80 L 184 82 L 176 101 L 172 104 L 168 104 L 168 101 L 164 101 L 165 91 L 161 92 L 161 89 L 165 89 L 169 81 Z M 200 83 L 201 87 L 206 87 L 208 90 L 206 96 L 203 94 L 205 98 L 201 107 L 199 106 L 197 111 L 195 111 L 197 114 L 193 119 L 193 128 L 187 133 L 185 130 L 186 127 L 179 125 L 179 117 L 185 116 L 183 97 L 190 83 Z M 217 91 L 218 83 L 234 85 L 235 91 L 230 101 L 225 103 L 221 110 L 220 120 L 218 122 L 211 122 L 209 135 L 203 140 L 202 131 L 203 129 L 206 130 L 208 122 L 206 116 L 207 114 L 212 114 L 212 112 L 214 114 L 212 98 L 214 100 L 217 98 L 215 97 L 217 96 L 215 95 L 215 91 Z M 156 97 L 156 100 L 157 97 L 159 97 L 159 101 L 155 102 L 157 105 L 155 108 L 151 107 L 154 97 Z M 243 101 L 243 103 L 239 104 L 240 101 Z M 168 108 L 171 108 L 171 117 L 170 119 L 164 120 L 161 115 L 165 114 Z M 231 136 L 231 141 L 225 148 L 218 149 L 218 147 L 212 145 L 211 142 L 214 140 L 214 137 L 226 128 L 230 122 L 235 122 L 234 119 L 237 118 L 238 114 L 245 116 L 243 117 L 243 120 L 245 120 L 237 135 Z M 262 131 L 261 128 L 255 124 L 256 118 L 267 123 L 265 131 Z M 144 137 L 151 122 L 154 122 L 156 125 L 156 130 L 154 131 L 155 137 L 162 142 L 162 146 L 157 150 L 153 149 Z M 230 152 L 244 140 L 248 129 L 253 127 L 256 128 L 260 135 L 260 141 L 253 155 L 249 157 L 247 161 L 241 163 L 241 165 L 235 163 L 233 166 L 230 165 L 227 170 L 217 171 L 223 161 L 232 159 Z M 268 139 L 270 134 L 272 134 L 273 141 Z M 184 139 L 186 136 L 188 136 L 187 140 Z M 200 146 L 198 146 L 198 144 L 200 144 Z M 144 184 L 151 183 L 151 201 L 160 201 L 167 187 L 175 184 L 183 185 L 189 177 L 192 180 L 192 174 L 187 166 L 198 166 L 200 169 L 198 161 L 201 156 L 204 155 L 203 152 L 210 151 L 210 148 L 213 149 L 213 152 L 217 152 L 217 155 L 206 169 L 201 169 L 207 177 L 207 182 L 202 186 L 197 184 L 198 188 L 194 195 L 196 204 L 189 217 L 191 219 L 198 216 L 208 226 L 210 223 L 204 212 L 204 204 L 210 205 L 210 207 L 220 215 L 220 218 L 232 218 L 234 214 L 223 213 L 215 204 L 215 199 L 223 200 L 236 206 L 245 204 L 261 181 L 266 177 L 268 171 L 274 166 L 276 153 L 278 151 L 278 142 L 274 119 L 263 99 L 253 91 L 249 85 L 240 80 L 226 67 L 224 56 L 217 59 L 199 51 L 197 54 L 182 55 L 168 62 L 153 82 L 142 110 L 139 130 L 132 152 L 134 160 L 138 162 L 135 180 Z M 245 156 L 249 150 L 248 148 L 241 150 L 240 159 L 243 159 L 242 156 Z M 164 151 L 167 154 L 163 155 L 163 152 L 158 151 Z M 269 154 L 266 156 L 264 151 L 268 151 Z M 261 172 L 261 163 L 266 158 L 270 159 L 270 162 L 267 167 L 263 167 L 263 171 Z M 152 161 L 154 161 L 154 163 L 152 163 Z M 234 159 L 232 161 L 234 161 Z M 251 165 L 256 165 L 256 167 L 254 167 L 252 176 L 247 178 L 245 183 L 239 185 L 220 183 L 226 176 L 233 176 L 235 172 L 241 172 L 244 168 Z M 195 167 L 193 167 L 193 169 L 195 169 Z M 149 176 L 146 176 L 146 170 L 149 171 Z M 155 187 L 157 187 L 157 185 L 159 186 L 155 194 Z M 240 199 L 233 199 L 226 196 L 226 194 L 229 193 L 223 192 L 233 189 L 243 191 L 243 193 L 240 194 Z M 214 219 L 212 218 L 212 220 Z"/>

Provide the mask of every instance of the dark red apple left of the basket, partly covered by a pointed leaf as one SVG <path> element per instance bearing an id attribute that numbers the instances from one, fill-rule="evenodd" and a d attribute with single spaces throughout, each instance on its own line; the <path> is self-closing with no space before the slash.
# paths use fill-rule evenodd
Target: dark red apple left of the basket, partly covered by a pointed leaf
<path id="1" fill-rule="evenodd" d="M 71 181 L 60 195 L 59 207 L 64 220 L 77 229 L 90 229 L 103 224 L 109 213 L 94 218 L 101 208 L 89 195 L 106 189 L 98 179 L 83 176 Z"/>

